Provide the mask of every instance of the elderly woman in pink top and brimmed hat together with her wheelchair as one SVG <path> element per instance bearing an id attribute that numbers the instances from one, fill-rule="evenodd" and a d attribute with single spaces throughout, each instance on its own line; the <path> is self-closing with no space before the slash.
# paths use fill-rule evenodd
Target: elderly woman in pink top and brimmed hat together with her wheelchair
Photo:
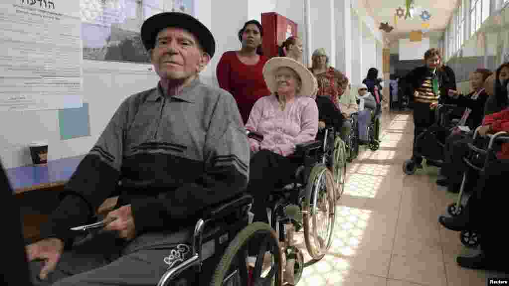
<path id="1" fill-rule="evenodd" d="M 315 140 L 319 110 L 313 99 L 313 74 L 289 58 L 269 60 L 263 74 L 272 95 L 254 104 L 246 124 L 252 151 L 247 192 L 254 198 L 254 222 L 268 223 L 267 209 L 271 210 L 272 227 L 279 232 L 288 259 L 284 276 L 295 284 L 303 258 L 292 245 L 291 232 L 285 237 L 284 224 L 292 230 L 303 221 L 308 251 L 314 259 L 321 259 L 332 238 L 334 180 L 318 158 L 322 142 Z M 325 234 L 318 234 L 323 232 L 319 228 L 326 228 Z M 262 240 L 251 243 L 250 258 L 267 249 L 264 244 Z"/>

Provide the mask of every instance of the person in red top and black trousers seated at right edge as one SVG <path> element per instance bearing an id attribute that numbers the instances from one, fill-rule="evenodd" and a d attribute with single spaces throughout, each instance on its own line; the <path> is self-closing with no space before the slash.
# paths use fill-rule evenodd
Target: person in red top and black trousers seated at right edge
<path id="1" fill-rule="evenodd" d="M 486 116 L 483 127 L 479 129 L 479 135 L 486 136 L 500 131 L 509 132 L 509 108 Z M 455 218 L 444 216 L 439 218 L 440 223 L 449 230 L 479 231 L 479 237 L 482 238 L 480 254 L 473 257 L 459 256 L 457 262 L 460 266 L 509 271 L 507 239 L 497 231 L 502 227 L 503 218 L 507 215 L 506 202 L 509 195 L 506 187 L 503 187 L 507 184 L 507 176 L 509 176 L 509 143 L 502 144 L 496 158 L 491 158 L 485 166 L 482 180 L 480 184 L 476 184 L 478 190 L 469 197 L 465 211 Z"/>

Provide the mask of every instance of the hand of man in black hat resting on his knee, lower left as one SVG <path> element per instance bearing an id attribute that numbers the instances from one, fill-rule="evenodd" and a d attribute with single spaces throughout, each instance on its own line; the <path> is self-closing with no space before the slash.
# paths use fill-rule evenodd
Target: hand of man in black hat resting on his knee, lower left
<path id="1" fill-rule="evenodd" d="M 45 280 L 53 272 L 64 251 L 64 242 L 58 238 L 47 238 L 26 246 L 27 260 L 44 260 L 39 278 Z"/>

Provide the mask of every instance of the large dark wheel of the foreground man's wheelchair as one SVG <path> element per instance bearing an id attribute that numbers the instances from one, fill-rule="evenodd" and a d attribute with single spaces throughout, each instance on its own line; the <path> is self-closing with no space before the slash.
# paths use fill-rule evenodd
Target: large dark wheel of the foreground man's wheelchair
<path id="1" fill-rule="evenodd" d="M 251 275 L 248 273 L 246 263 L 247 246 L 252 243 L 251 240 L 255 237 L 263 239 L 261 239 L 262 244 Z M 272 254 L 272 265 L 268 272 L 262 269 L 266 251 L 270 251 Z M 282 282 L 282 255 L 277 235 L 272 227 L 263 222 L 251 223 L 228 245 L 214 271 L 210 285 L 222 286 L 235 276 L 232 274 L 237 274 L 235 277 L 240 279 L 241 285 L 248 285 L 248 281 L 251 285 L 280 285 Z M 262 276 L 264 274 L 265 276 Z"/>

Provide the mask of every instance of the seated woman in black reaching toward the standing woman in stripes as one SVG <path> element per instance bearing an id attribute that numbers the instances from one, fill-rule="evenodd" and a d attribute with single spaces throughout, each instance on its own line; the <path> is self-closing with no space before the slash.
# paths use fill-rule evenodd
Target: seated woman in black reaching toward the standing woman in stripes
<path id="1" fill-rule="evenodd" d="M 486 79 L 492 74 L 488 69 L 475 70 L 470 79 L 472 92 L 467 95 L 462 95 L 457 91 L 450 90 L 451 96 L 457 97 L 456 103 L 463 109 L 463 114 L 458 127 L 449 135 L 445 142 L 444 164 L 441 168 L 441 174 L 444 178 L 437 180 L 437 185 L 447 186 L 449 184 L 449 177 L 455 176 L 461 167 L 455 166 L 453 163 L 452 148 L 454 142 L 466 138 L 468 135 L 465 132 L 459 131 L 459 126 L 468 126 L 470 130 L 475 130 L 483 122 L 484 106 L 488 99 L 488 93 L 483 87 Z"/>

